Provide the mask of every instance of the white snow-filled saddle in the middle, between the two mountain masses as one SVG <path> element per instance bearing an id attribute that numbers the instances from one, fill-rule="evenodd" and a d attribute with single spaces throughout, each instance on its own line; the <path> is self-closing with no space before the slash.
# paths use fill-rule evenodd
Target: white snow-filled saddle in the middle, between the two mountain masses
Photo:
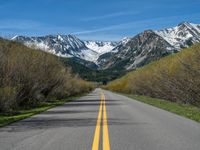
<path id="1" fill-rule="evenodd" d="M 85 45 L 97 52 L 99 55 L 110 52 L 117 46 L 117 42 L 85 41 Z"/>

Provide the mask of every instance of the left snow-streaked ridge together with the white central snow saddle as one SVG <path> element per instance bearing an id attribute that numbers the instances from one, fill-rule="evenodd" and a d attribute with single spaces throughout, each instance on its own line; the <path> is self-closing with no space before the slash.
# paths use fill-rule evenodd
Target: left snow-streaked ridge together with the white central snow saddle
<path id="1" fill-rule="evenodd" d="M 12 40 L 57 56 L 76 57 L 94 63 L 100 55 L 111 51 L 118 44 L 117 42 L 82 41 L 74 35 L 14 36 Z"/>

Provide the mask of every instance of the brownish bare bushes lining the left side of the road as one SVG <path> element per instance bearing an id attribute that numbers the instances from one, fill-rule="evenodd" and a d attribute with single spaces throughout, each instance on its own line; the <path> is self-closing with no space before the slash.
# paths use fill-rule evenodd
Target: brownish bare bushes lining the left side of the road
<path id="1" fill-rule="evenodd" d="M 0 39 L 1 117 L 92 89 L 91 83 L 72 74 L 58 57 Z"/>

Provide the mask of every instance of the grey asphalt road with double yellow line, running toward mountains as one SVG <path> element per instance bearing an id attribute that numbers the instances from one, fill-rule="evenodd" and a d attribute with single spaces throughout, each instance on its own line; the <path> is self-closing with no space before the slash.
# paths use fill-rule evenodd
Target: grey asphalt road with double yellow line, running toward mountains
<path id="1" fill-rule="evenodd" d="M 109 91 L 0 129 L 1 150 L 199 150 L 200 124 Z"/>

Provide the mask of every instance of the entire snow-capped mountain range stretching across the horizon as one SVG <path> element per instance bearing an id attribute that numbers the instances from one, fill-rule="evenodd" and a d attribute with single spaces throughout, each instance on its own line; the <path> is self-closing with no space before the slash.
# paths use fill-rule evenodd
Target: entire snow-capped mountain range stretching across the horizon
<path id="1" fill-rule="evenodd" d="M 182 22 L 172 28 L 145 30 L 119 42 L 82 41 L 74 35 L 15 36 L 12 40 L 96 69 L 133 70 L 200 42 L 200 25 Z"/>

